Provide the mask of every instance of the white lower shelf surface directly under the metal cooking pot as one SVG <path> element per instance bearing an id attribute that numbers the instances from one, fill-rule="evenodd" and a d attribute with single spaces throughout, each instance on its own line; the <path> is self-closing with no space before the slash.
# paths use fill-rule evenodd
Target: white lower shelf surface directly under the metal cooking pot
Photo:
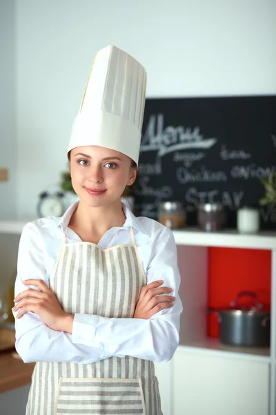
<path id="1" fill-rule="evenodd" d="M 192 351 L 193 353 L 210 353 L 215 356 L 228 356 L 230 358 L 242 358 L 271 362 L 269 347 L 239 347 L 222 344 L 218 338 L 204 338 L 195 342 L 179 344 L 179 349 Z"/>

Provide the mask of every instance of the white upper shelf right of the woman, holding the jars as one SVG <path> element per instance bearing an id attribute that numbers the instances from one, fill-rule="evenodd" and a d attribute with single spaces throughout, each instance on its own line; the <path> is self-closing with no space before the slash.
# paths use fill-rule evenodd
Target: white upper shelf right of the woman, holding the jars
<path id="1" fill-rule="evenodd" d="M 276 232 L 271 230 L 256 234 L 240 234 L 235 229 L 204 232 L 197 228 L 184 228 L 174 230 L 173 234 L 177 245 L 276 249 Z"/>

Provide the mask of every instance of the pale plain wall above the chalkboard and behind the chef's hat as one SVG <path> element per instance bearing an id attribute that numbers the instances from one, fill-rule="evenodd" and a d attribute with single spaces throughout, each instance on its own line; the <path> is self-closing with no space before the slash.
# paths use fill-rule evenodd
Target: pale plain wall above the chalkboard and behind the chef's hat
<path id="1" fill-rule="evenodd" d="M 275 16 L 275 0 L 15 1 L 16 48 L 8 42 L 17 62 L 14 74 L 9 61 L 9 81 L 17 85 L 17 140 L 10 142 L 18 152 L 18 216 L 34 216 L 37 194 L 66 169 L 71 125 L 99 48 L 115 44 L 144 64 L 148 97 L 275 94 Z"/>

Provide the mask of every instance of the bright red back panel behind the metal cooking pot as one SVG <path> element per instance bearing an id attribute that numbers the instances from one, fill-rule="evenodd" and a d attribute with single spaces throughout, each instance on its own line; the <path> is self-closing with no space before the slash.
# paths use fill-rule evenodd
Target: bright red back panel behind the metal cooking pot
<path id="1" fill-rule="evenodd" d="M 271 252 L 240 248 L 209 248 L 208 306 L 228 307 L 240 291 L 254 291 L 270 307 Z M 244 303 L 252 304 L 246 297 Z M 208 335 L 219 336 L 215 315 L 208 315 Z"/>

